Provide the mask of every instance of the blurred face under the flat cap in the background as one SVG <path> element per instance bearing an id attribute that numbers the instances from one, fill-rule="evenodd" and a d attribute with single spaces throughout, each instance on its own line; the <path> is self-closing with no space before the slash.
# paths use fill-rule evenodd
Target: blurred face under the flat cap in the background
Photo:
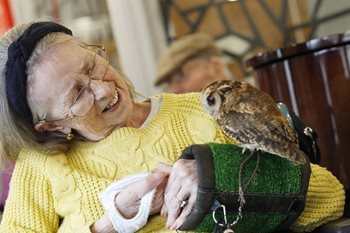
<path id="1" fill-rule="evenodd" d="M 223 67 L 218 58 L 189 60 L 169 77 L 167 91 L 199 92 L 210 83 L 221 79 L 224 79 Z"/>

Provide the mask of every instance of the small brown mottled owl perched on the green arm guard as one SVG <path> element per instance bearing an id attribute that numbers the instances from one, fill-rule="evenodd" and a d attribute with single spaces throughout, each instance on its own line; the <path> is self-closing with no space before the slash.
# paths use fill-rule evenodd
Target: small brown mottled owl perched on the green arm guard
<path id="1" fill-rule="evenodd" d="M 298 135 L 267 93 L 245 82 L 217 81 L 202 91 L 203 108 L 243 150 L 261 150 L 304 164 Z"/>

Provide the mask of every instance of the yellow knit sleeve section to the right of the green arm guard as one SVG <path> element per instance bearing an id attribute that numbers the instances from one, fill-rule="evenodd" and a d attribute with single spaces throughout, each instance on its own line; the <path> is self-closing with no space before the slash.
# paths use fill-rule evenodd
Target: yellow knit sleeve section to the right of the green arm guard
<path id="1" fill-rule="evenodd" d="M 311 231 L 340 218 L 345 205 L 344 187 L 326 168 L 311 164 L 311 176 L 303 213 L 292 224 L 295 232 Z"/>

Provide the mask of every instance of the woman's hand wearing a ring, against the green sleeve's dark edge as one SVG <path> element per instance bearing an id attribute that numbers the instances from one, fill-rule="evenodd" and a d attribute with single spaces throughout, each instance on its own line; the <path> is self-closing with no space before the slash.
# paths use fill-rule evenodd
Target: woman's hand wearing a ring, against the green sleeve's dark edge
<path id="1" fill-rule="evenodd" d="M 192 212 L 196 201 L 198 189 L 196 161 L 180 159 L 173 167 L 161 164 L 158 170 L 165 173 L 171 172 L 165 188 L 161 215 L 168 216 L 167 228 L 175 230 Z M 181 205 L 184 206 L 181 208 Z"/>

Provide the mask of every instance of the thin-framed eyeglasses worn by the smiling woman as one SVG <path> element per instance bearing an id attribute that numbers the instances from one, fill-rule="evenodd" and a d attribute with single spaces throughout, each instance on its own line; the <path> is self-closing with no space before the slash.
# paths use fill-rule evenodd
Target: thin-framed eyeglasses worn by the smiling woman
<path id="1" fill-rule="evenodd" d="M 79 87 L 79 92 L 75 96 L 72 105 L 69 107 L 68 116 L 65 118 L 49 121 L 62 121 L 62 120 L 71 120 L 76 117 L 85 116 L 89 110 L 92 108 L 95 96 L 93 91 L 90 88 L 92 80 L 103 80 L 109 67 L 109 58 L 106 52 L 106 49 L 101 45 L 85 45 L 91 50 L 94 51 L 94 55 L 91 60 L 91 64 L 87 69 L 86 76 L 88 77 L 88 82 Z M 101 57 L 102 59 L 98 59 Z M 43 120 L 49 122 L 46 119 Z"/>

